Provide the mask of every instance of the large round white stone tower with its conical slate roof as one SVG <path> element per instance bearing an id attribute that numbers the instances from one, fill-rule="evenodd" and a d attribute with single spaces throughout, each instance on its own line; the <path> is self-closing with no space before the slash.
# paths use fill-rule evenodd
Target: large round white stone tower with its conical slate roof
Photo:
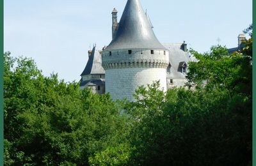
<path id="1" fill-rule="evenodd" d="M 106 92 L 133 101 L 138 86 L 159 80 L 166 91 L 168 50 L 159 43 L 140 0 L 128 0 L 116 34 L 102 52 Z"/>

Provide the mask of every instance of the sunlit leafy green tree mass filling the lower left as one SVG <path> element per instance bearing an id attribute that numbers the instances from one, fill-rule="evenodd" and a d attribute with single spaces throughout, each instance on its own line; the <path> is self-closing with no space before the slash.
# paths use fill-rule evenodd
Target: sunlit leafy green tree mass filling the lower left
<path id="1" fill-rule="evenodd" d="M 6 165 L 88 165 L 124 143 L 130 124 L 109 94 L 44 77 L 32 59 L 4 55 Z"/>

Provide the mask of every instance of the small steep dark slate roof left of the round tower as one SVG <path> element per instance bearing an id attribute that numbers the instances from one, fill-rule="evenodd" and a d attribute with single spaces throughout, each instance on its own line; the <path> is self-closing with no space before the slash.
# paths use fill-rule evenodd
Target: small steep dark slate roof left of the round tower
<path id="1" fill-rule="evenodd" d="M 105 70 L 102 68 L 102 59 L 100 52 L 96 50 L 96 47 L 93 47 L 92 54 L 89 56 L 88 62 L 84 68 L 82 75 L 89 74 L 104 74 Z"/>

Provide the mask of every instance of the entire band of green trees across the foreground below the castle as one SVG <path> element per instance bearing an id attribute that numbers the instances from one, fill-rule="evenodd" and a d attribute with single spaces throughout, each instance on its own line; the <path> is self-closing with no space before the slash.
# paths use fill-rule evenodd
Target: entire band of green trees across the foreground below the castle
<path id="1" fill-rule="evenodd" d="M 250 31 L 250 29 L 248 29 Z M 4 54 L 5 165 L 252 165 L 252 38 L 189 63 L 187 87 L 113 102 Z"/>

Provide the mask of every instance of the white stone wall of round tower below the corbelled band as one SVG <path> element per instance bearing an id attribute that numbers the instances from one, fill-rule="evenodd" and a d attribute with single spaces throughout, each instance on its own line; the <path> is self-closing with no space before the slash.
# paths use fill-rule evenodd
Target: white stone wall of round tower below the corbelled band
<path id="1" fill-rule="evenodd" d="M 166 91 L 166 70 L 164 68 L 120 68 L 106 70 L 106 92 L 113 100 L 127 98 L 134 101 L 132 94 L 139 86 L 147 86 L 160 80 Z"/>

